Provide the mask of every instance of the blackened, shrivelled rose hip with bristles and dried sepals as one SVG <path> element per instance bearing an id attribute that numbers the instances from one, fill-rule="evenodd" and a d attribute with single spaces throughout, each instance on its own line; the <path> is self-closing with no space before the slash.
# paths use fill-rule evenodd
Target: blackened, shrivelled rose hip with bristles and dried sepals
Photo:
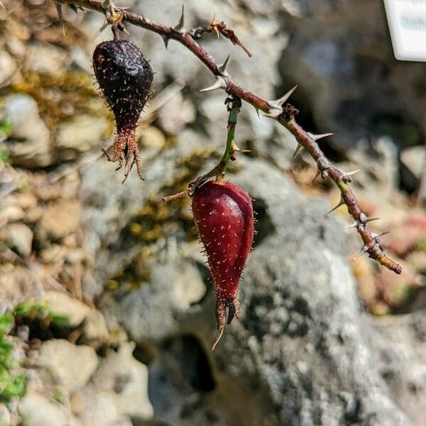
<path id="1" fill-rule="evenodd" d="M 117 134 L 110 161 L 124 162 L 124 180 L 136 164 L 142 179 L 136 129 L 151 94 L 153 70 L 141 50 L 126 40 L 105 41 L 93 53 L 94 75 L 114 113 Z M 124 182 L 124 181 L 123 181 Z"/>

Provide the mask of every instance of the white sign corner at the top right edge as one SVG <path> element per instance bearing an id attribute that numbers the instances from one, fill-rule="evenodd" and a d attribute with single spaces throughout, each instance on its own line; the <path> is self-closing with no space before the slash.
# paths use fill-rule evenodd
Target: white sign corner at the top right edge
<path id="1" fill-rule="evenodd" d="M 426 62 L 426 0 L 384 0 L 395 58 Z"/>

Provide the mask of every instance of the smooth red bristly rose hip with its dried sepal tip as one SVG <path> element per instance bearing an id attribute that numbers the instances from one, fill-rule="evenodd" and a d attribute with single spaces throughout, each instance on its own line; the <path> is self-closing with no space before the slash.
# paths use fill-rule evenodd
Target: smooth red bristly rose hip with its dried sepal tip
<path id="1" fill-rule="evenodd" d="M 210 181 L 195 188 L 192 214 L 216 288 L 218 336 L 214 351 L 225 324 L 230 324 L 234 315 L 239 317 L 238 285 L 253 243 L 253 204 L 241 187 Z"/>

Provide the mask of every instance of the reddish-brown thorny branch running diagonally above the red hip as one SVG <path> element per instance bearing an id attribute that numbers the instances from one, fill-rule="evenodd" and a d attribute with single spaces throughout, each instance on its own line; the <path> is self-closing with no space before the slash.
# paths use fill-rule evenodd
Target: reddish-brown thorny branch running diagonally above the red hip
<path id="1" fill-rule="evenodd" d="M 109 18 L 109 21 L 111 21 L 111 16 L 116 19 L 116 16 L 114 16 L 114 11 L 112 13 L 108 11 L 109 6 L 111 6 L 110 0 L 104 2 L 97 0 L 56 1 L 60 4 L 80 6 L 82 9 L 92 9 L 94 11 L 98 11 L 106 15 L 107 20 Z M 295 88 L 291 89 L 290 92 L 285 94 L 280 99 L 267 101 L 261 97 L 258 97 L 256 94 L 249 92 L 249 90 L 244 89 L 244 87 L 241 87 L 238 82 L 236 82 L 231 77 L 231 75 L 229 75 L 229 72 L 226 71 L 226 65 L 229 61 L 229 57 L 226 58 L 222 65 L 219 65 L 216 60 L 214 60 L 212 55 L 210 55 L 207 50 L 205 50 L 196 40 L 201 37 L 202 33 L 214 31 L 215 33 L 222 33 L 222 35 L 231 40 L 231 43 L 240 45 L 244 48 L 244 46 L 242 46 L 239 42 L 238 38 L 236 38 L 235 33 L 229 30 L 229 28 L 226 28 L 224 23 L 216 23 L 215 18 L 213 22 L 204 29 L 200 27 L 195 28 L 192 31 L 187 31 L 185 29 L 183 8 L 182 16 L 180 17 L 178 25 L 175 27 L 166 26 L 162 23 L 151 21 L 151 19 L 146 18 L 146 16 L 137 15 L 136 13 L 132 13 L 131 11 L 127 11 L 121 8 L 116 8 L 115 10 L 119 13 L 120 23 L 131 23 L 132 25 L 139 26 L 141 28 L 145 28 L 148 31 L 157 33 L 161 38 L 163 38 L 166 48 L 169 40 L 175 40 L 178 43 L 184 45 L 185 48 L 197 56 L 197 58 L 199 58 L 204 63 L 204 65 L 216 78 L 216 82 L 212 85 L 212 87 L 203 89 L 202 92 L 215 89 L 224 89 L 227 94 L 233 95 L 234 97 L 242 99 L 248 104 L 251 104 L 256 109 L 256 111 L 263 111 L 266 113 L 266 116 L 270 117 L 271 119 L 275 119 L 275 121 L 278 121 L 278 123 L 293 133 L 298 143 L 296 153 L 299 151 L 300 147 L 305 148 L 317 164 L 317 175 L 321 175 L 323 179 L 331 179 L 339 188 L 342 198 L 339 204 L 334 207 L 334 209 L 337 209 L 342 205 L 346 205 L 349 214 L 354 219 L 354 224 L 352 224 L 351 227 L 356 228 L 356 231 L 358 231 L 361 239 L 364 241 L 364 246 L 362 247 L 359 256 L 368 253 L 370 258 L 375 259 L 381 263 L 381 265 L 386 266 L 386 268 L 389 268 L 395 273 L 401 273 L 401 266 L 388 258 L 388 256 L 386 256 L 383 249 L 381 248 L 380 242 L 378 241 L 378 237 L 380 235 L 373 234 L 373 232 L 368 227 L 368 222 L 371 222 L 373 219 L 366 217 L 366 214 L 361 211 L 354 192 L 352 192 L 351 187 L 349 186 L 351 183 L 351 175 L 354 173 L 342 172 L 342 170 L 339 170 L 334 165 L 329 163 L 329 160 L 327 160 L 324 153 L 322 153 L 317 141 L 320 138 L 329 136 L 329 133 L 326 135 L 313 135 L 312 133 L 308 133 L 302 129 L 302 127 L 297 124 L 295 117 L 299 111 L 287 103 L 290 94 L 293 93 Z M 244 48 L 244 50 L 246 49 Z M 332 211 L 334 209 L 332 209 Z"/>

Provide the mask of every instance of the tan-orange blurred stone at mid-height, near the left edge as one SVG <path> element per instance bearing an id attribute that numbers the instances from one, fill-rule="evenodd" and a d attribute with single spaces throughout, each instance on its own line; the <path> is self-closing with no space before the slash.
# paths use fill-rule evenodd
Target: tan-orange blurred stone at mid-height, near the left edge
<path id="1" fill-rule="evenodd" d="M 39 241 L 58 241 L 77 231 L 79 225 L 80 203 L 62 200 L 44 209 L 36 228 L 36 236 Z"/>

